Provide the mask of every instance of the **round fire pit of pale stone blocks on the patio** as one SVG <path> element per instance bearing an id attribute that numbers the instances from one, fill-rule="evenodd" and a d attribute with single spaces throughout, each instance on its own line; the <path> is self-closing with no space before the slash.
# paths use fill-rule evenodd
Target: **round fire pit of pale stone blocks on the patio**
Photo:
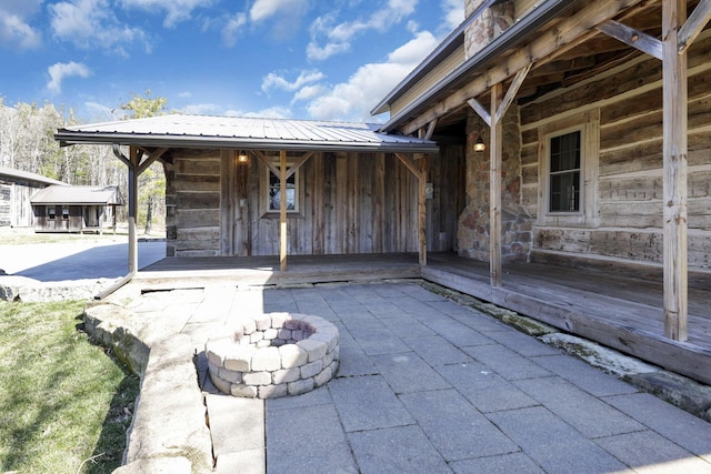
<path id="1" fill-rule="evenodd" d="M 267 313 L 240 317 L 229 335 L 206 343 L 210 380 L 222 393 L 250 399 L 299 395 L 338 370 L 338 329 L 322 317 Z"/>

